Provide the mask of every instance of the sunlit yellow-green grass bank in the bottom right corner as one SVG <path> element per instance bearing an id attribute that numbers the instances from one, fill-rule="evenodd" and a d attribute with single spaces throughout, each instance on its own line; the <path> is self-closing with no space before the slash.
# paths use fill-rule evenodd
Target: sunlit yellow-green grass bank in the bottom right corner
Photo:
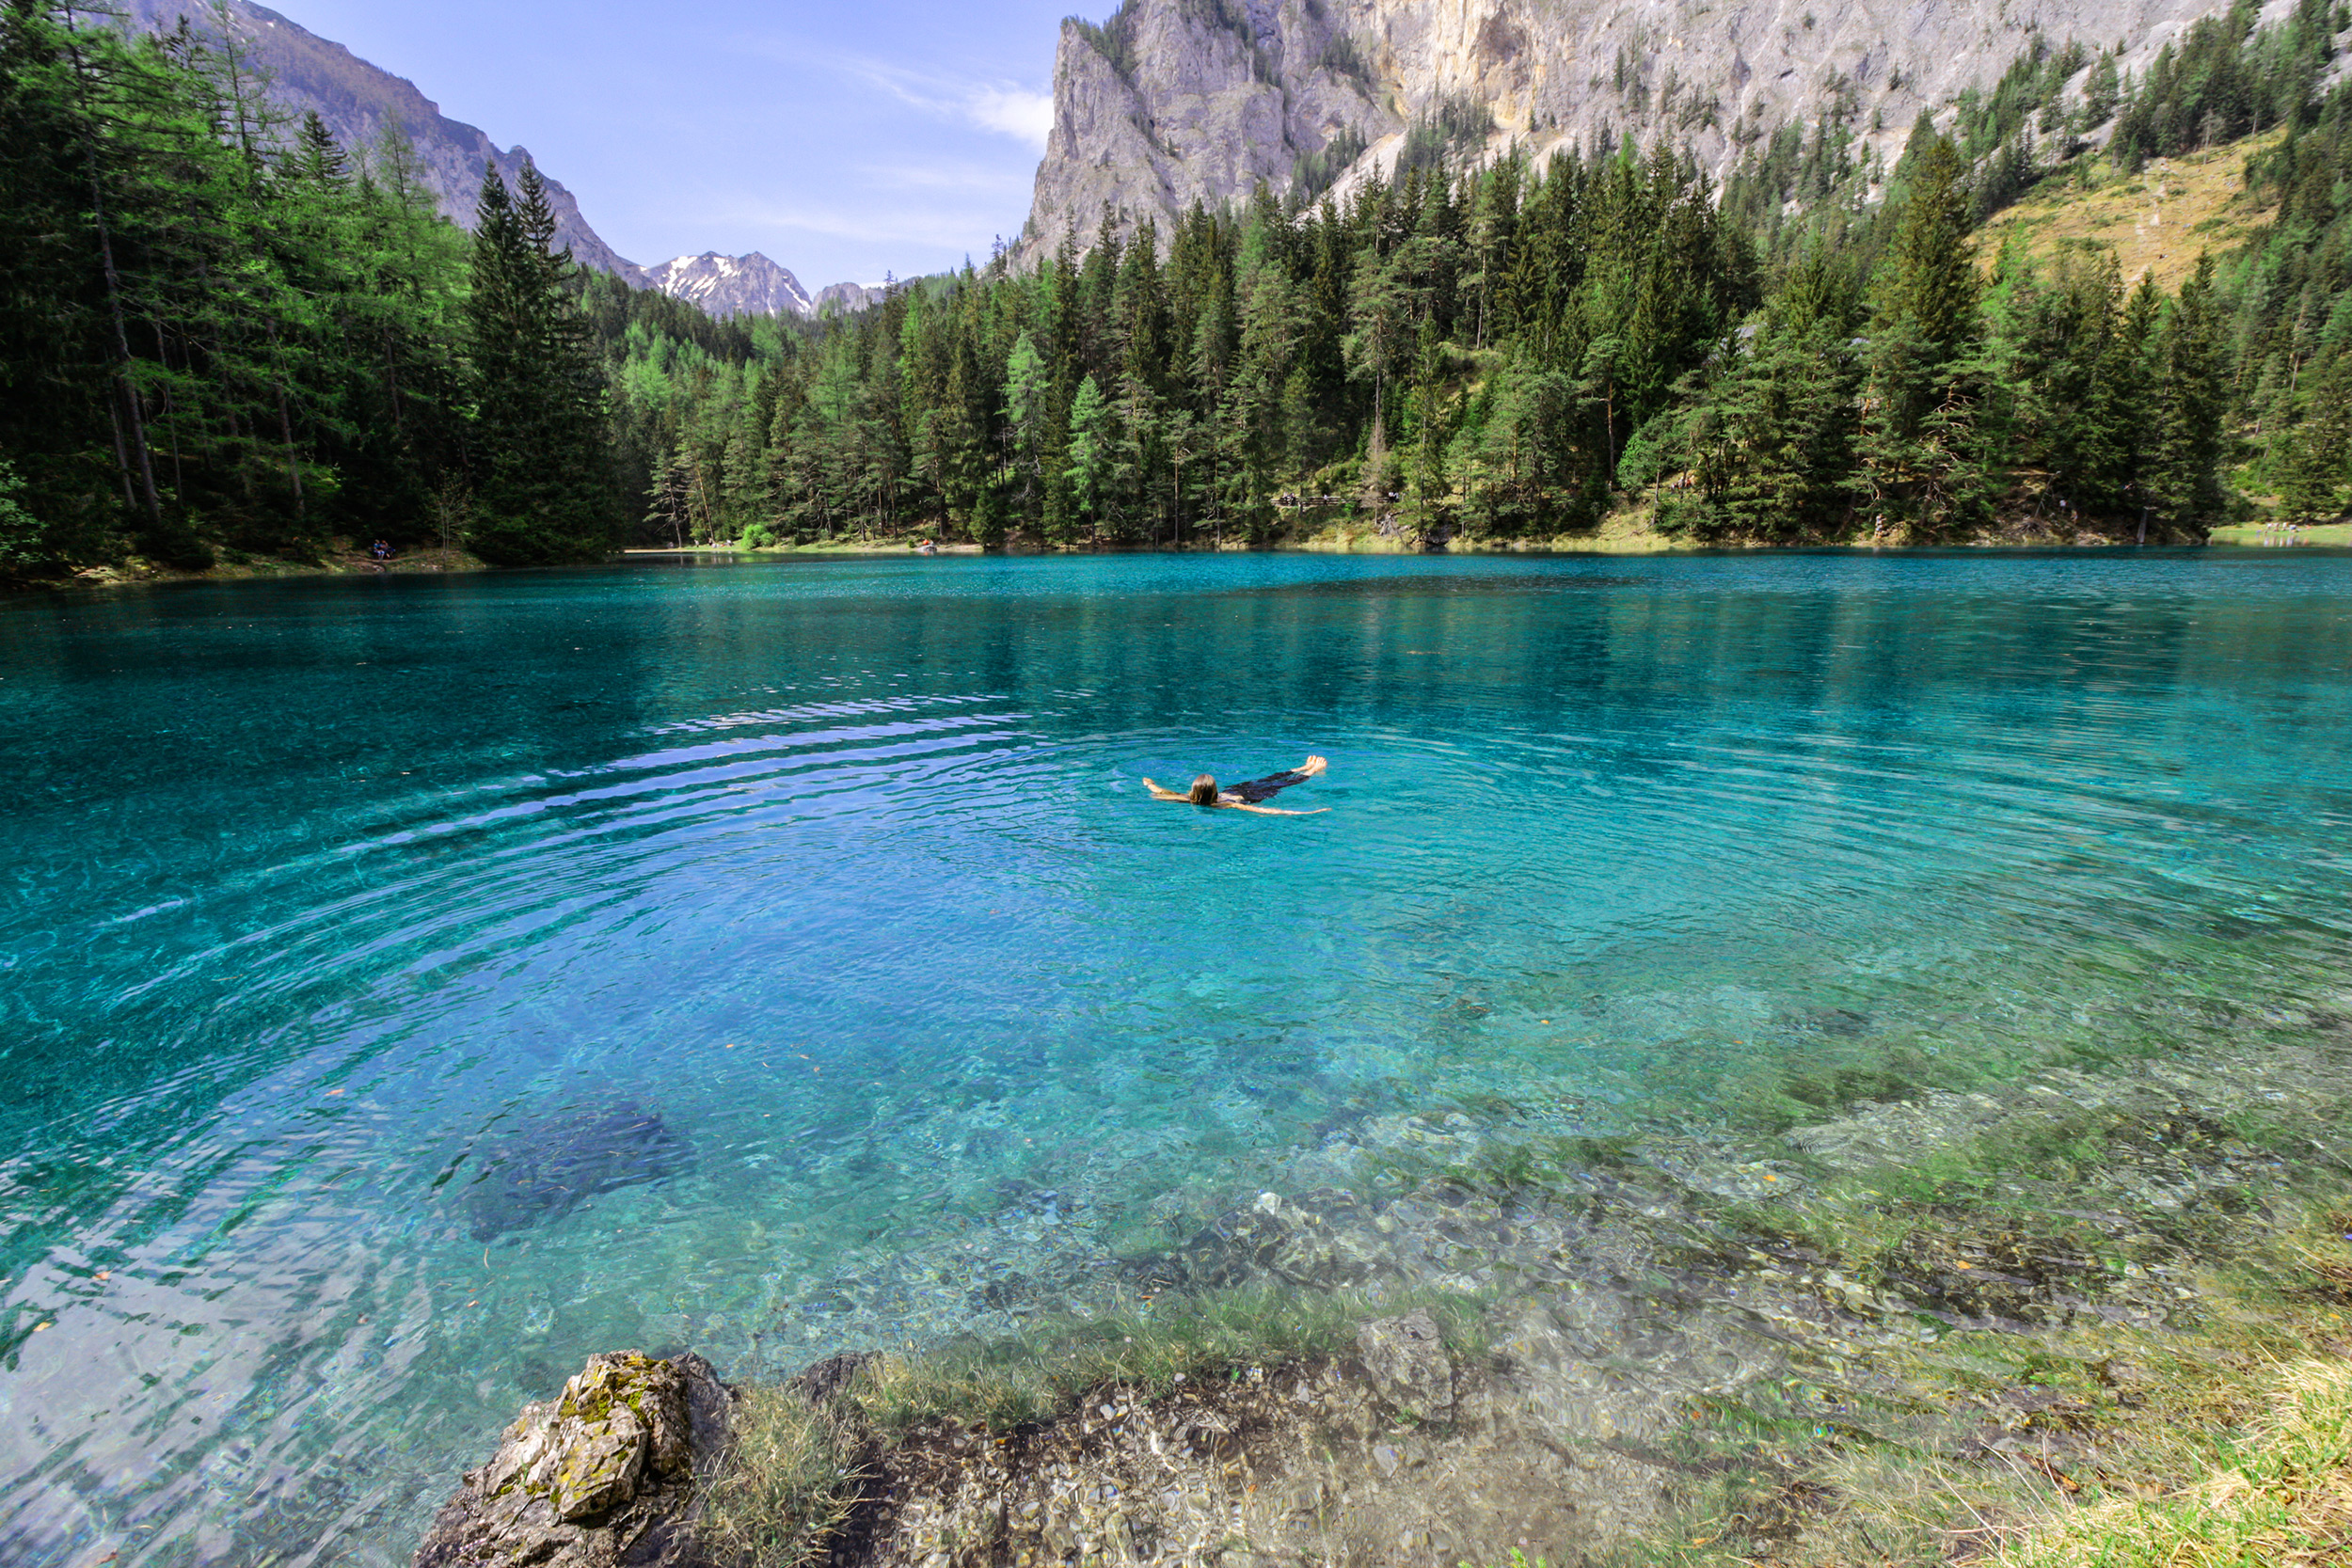
<path id="1" fill-rule="evenodd" d="M 2314 1220 L 2331 1239 L 2338 1222 Z M 1710 1481 L 1668 1530 L 1606 1561 L 2347 1561 L 2352 1342 L 2343 1305 L 2300 1279 L 2230 1269 L 2201 1281 L 2194 1321 L 2161 1331 L 1947 1335 L 1900 1368 L 1915 1415 L 1903 1432 L 1703 1413 L 1682 1453 Z"/>

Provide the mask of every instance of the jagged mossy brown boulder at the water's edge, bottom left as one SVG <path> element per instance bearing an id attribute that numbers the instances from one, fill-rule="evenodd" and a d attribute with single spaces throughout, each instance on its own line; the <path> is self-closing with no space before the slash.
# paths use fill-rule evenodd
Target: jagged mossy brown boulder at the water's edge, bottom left
<path id="1" fill-rule="evenodd" d="M 701 1356 L 590 1356 L 466 1474 L 414 1568 L 699 1568 L 694 1483 L 727 1448 L 731 1403 Z"/>

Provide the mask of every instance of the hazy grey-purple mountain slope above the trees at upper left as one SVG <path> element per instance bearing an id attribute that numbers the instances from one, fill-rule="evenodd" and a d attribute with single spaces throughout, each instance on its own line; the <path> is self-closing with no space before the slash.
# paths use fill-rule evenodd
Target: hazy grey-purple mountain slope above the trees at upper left
<path id="1" fill-rule="evenodd" d="M 270 80 L 270 99 L 294 115 L 315 108 L 334 139 L 355 150 L 374 148 L 388 127 L 397 127 L 416 148 L 423 183 L 440 209 L 459 223 L 473 223 L 485 162 L 499 165 L 508 183 L 529 162 L 524 148 L 501 148 L 477 127 L 449 120 L 437 103 L 416 92 L 414 82 L 369 66 L 343 45 L 252 0 L 226 0 L 226 5 L 238 42 Z M 219 31 L 202 0 L 129 0 L 127 14 L 143 28 L 169 28 L 186 16 L 200 33 Z M 642 287 L 644 273 L 588 228 L 572 193 L 546 169 L 539 174 L 546 176 L 548 202 L 555 207 L 555 237 L 572 247 L 572 256 Z"/>

